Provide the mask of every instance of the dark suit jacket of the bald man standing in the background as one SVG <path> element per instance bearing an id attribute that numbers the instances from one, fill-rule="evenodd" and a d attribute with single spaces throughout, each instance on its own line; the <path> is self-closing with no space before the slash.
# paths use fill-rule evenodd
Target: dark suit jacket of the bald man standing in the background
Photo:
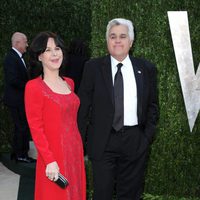
<path id="1" fill-rule="evenodd" d="M 11 49 L 4 60 L 4 103 L 11 107 L 24 104 L 27 70 L 16 51 Z"/>

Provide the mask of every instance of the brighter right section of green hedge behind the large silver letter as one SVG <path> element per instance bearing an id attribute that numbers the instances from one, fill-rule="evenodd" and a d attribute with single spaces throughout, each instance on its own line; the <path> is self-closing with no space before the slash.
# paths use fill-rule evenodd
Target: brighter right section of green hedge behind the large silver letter
<path id="1" fill-rule="evenodd" d="M 172 46 L 167 11 L 188 11 L 194 64 L 200 61 L 200 4 L 197 0 L 96 0 L 92 8 L 91 49 L 94 57 L 106 50 L 105 29 L 112 18 L 131 19 L 136 29 L 133 55 L 158 68 L 160 121 L 151 149 L 145 192 L 200 196 L 199 118 L 190 133 Z"/>

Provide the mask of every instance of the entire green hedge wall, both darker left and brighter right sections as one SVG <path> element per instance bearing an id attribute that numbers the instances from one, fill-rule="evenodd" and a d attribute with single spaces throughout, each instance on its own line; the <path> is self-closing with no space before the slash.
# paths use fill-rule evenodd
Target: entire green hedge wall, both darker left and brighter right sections
<path id="1" fill-rule="evenodd" d="M 197 118 L 190 133 L 167 18 L 167 11 L 172 10 L 188 11 L 193 59 L 197 67 L 200 61 L 198 0 L 2 0 L 0 8 L 1 63 L 14 31 L 25 32 L 30 40 L 42 30 L 58 32 L 66 43 L 73 37 L 81 37 L 89 42 L 91 55 L 96 57 L 107 53 L 105 29 L 110 19 L 125 17 L 133 21 L 136 30 L 133 55 L 145 57 L 158 68 L 160 121 L 151 148 L 145 186 L 145 198 L 152 200 L 172 200 L 170 196 L 184 200 L 183 197 L 200 196 L 200 119 Z M 1 81 L 1 94 L 2 87 Z M 2 104 L 0 109 L 2 147 L 9 141 L 11 125 Z M 87 174 L 88 188 L 91 189 L 89 164 Z"/>

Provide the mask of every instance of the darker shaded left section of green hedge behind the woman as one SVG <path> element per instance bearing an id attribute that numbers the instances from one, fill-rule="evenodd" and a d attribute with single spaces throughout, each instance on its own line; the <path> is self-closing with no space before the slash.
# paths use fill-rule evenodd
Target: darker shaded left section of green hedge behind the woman
<path id="1" fill-rule="evenodd" d="M 89 0 L 2 0 L 0 7 L 0 150 L 10 149 L 12 123 L 3 105 L 3 59 L 11 48 L 11 36 L 20 31 L 27 35 L 29 43 L 41 31 L 58 33 L 66 46 L 73 38 L 90 42 Z"/>

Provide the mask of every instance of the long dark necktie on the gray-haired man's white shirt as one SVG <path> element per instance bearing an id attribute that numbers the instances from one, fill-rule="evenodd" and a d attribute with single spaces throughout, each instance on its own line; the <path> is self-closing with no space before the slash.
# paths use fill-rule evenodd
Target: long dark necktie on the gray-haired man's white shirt
<path id="1" fill-rule="evenodd" d="M 118 70 L 114 79 L 114 100 L 115 113 L 113 119 L 113 128 L 119 131 L 124 125 L 124 86 L 121 72 L 122 63 L 117 65 Z"/>

